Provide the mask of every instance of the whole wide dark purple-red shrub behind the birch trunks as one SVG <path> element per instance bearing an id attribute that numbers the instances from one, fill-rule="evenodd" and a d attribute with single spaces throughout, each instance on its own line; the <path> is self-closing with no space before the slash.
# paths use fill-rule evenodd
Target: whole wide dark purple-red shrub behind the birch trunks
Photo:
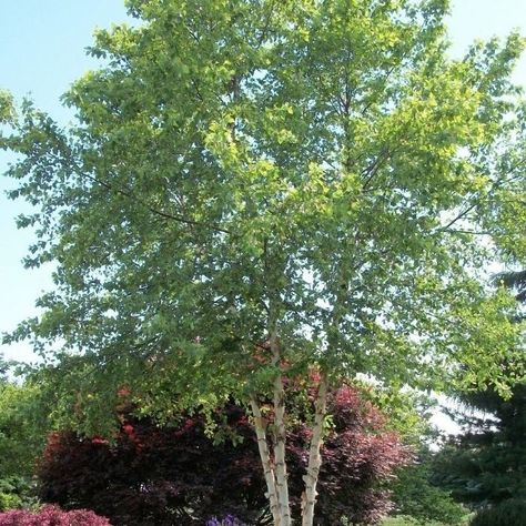
<path id="1" fill-rule="evenodd" d="M 409 462 L 385 417 L 356 390 L 330 395 L 333 429 L 323 446 L 316 524 L 374 524 L 391 508 L 384 488 L 394 468 Z M 204 524 L 211 516 L 233 514 L 243 523 L 271 523 L 265 483 L 252 426 L 242 408 L 226 405 L 223 431 L 242 443 L 214 445 L 200 416 L 175 427 L 156 427 L 128 416 L 114 445 L 73 433 L 50 436 L 40 463 L 40 496 L 64 508 L 88 507 L 115 526 Z M 304 424 L 287 435 L 292 505 L 299 510 L 306 444 Z"/>

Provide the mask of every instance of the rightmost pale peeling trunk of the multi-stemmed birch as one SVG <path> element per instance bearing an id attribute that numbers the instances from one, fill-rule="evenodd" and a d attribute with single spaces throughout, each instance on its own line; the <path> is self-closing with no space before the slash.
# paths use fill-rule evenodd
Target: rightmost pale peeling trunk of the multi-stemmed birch
<path id="1" fill-rule="evenodd" d="M 322 466 L 322 455 L 320 449 L 323 439 L 323 423 L 327 407 L 327 380 L 322 375 L 317 390 L 316 401 L 314 404 L 315 416 L 312 428 L 311 448 L 308 452 L 308 465 L 306 475 L 303 477 L 305 482 L 305 493 L 302 496 L 302 526 L 312 526 L 314 520 L 314 506 L 316 504 L 316 485 Z"/>

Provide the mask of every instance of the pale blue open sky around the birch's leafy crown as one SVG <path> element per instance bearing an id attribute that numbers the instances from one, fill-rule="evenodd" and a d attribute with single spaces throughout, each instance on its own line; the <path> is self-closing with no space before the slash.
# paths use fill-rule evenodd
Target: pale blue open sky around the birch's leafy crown
<path id="1" fill-rule="evenodd" d="M 0 0 L 0 88 L 18 99 L 30 94 L 38 107 L 68 122 L 71 115 L 61 108 L 60 95 L 97 67 L 84 54 L 93 29 L 125 20 L 123 0 Z M 449 18 L 452 53 L 462 54 L 475 38 L 504 37 L 514 28 L 526 34 L 526 0 L 456 0 Z M 526 58 L 515 80 L 526 87 Z M 9 161 L 0 152 L 0 172 Z M 34 315 L 34 300 L 51 286 L 50 267 L 28 271 L 21 265 L 32 235 L 14 226 L 14 216 L 27 206 L 3 195 L 10 186 L 11 181 L 0 178 L 0 332 Z M 16 360 L 32 356 L 24 343 L 0 351 Z"/>

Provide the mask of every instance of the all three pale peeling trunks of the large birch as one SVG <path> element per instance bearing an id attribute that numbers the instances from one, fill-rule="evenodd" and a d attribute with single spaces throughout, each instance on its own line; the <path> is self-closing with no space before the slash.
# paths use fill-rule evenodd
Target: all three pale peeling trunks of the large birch
<path id="1" fill-rule="evenodd" d="M 261 414 L 256 398 L 251 399 L 252 414 L 254 416 L 255 433 L 260 458 L 265 475 L 267 487 L 266 496 L 270 502 L 274 526 L 291 526 L 291 505 L 289 500 L 289 484 L 285 463 L 285 399 L 283 377 L 280 375 L 274 381 L 274 425 L 273 425 L 273 454 L 269 448 L 266 421 Z M 312 428 L 312 438 L 308 454 L 308 465 L 305 482 L 305 490 L 302 495 L 302 526 L 312 526 L 314 520 L 314 506 L 316 504 L 316 485 L 322 465 L 321 446 L 323 438 L 323 423 L 326 414 L 327 381 L 324 376 L 320 380 L 317 396 L 315 401 L 315 416 Z"/>

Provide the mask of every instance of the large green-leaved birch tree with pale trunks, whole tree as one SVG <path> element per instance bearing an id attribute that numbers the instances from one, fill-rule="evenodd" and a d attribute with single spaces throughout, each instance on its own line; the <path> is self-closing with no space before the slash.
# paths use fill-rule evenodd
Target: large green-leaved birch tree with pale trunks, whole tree
<path id="1" fill-rule="evenodd" d="M 446 0 L 128 7 L 140 23 L 99 31 L 105 65 L 64 97 L 77 123 L 26 103 L 2 140 L 21 156 L 11 195 L 38 206 L 19 218 L 38 235 L 26 263 L 58 265 L 42 316 L 8 341 L 63 344 L 70 419 L 88 433 L 109 432 L 122 384 L 158 416 L 234 393 L 280 526 L 284 378 L 318 367 L 311 525 L 342 375 L 505 388 L 496 364 L 519 327 L 481 269 L 526 252 L 526 119 L 508 81 L 523 40 L 448 59 Z"/>

